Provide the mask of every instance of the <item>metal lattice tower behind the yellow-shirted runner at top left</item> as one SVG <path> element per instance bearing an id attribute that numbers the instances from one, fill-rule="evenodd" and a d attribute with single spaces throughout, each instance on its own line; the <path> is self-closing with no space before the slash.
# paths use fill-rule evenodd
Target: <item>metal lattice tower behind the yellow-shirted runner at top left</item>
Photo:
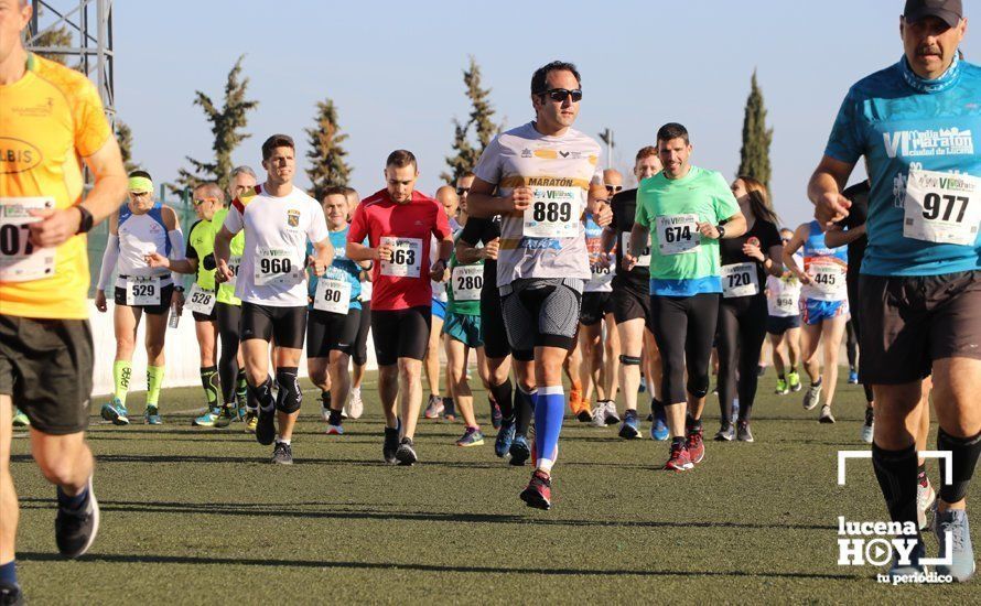
<path id="1" fill-rule="evenodd" d="M 112 0 L 31 0 L 34 15 L 25 45 L 57 55 L 96 83 L 103 107 L 116 123 Z"/>

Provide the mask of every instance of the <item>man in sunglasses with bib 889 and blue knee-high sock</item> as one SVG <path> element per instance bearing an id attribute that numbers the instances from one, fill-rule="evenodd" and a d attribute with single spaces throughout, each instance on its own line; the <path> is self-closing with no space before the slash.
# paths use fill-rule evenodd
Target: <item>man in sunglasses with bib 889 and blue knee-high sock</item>
<path id="1" fill-rule="evenodd" d="M 497 286 L 519 389 L 535 403 L 538 461 L 521 493 L 551 507 L 551 468 L 565 408 L 562 361 L 572 348 L 590 279 L 582 216 L 610 223 L 600 144 L 572 129 L 582 100 L 579 72 L 552 62 L 531 77 L 535 119 L 498 134 L 474 169 L 467 207 L 500 215 Z"/>

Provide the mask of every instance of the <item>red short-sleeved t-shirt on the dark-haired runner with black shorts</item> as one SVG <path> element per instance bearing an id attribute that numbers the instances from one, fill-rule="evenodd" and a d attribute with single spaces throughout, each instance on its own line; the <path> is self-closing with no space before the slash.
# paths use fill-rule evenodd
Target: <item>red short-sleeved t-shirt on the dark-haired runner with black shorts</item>
<path id="1" fill-rule="evenodd" d="M 381 190 L 362 201 L 351 221 L 347 241 L 378 248 L 381 239 L 395 244 L 392 261 L 376 261 L 371 270 L 371 310 L 408 310 L 432 304 L 429 281 L 430 235 L 443 240 L 450 221 L 443 206 L 433 198 L 412 192 L 406 204 L 391 201 Z"/>

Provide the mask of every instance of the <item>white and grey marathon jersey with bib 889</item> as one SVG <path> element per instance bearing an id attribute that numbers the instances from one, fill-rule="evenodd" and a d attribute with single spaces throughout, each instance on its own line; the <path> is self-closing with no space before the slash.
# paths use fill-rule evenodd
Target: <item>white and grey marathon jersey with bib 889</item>
<path id="1" fill-rule="evenodd" d="M 516 187 L 535 192 L 536 204 L 529 213 L 514 212 L 502 216 L 500 252 L 497 258 L 497 285 L 505 286 L 524 278 L 590 279 L 582 223 L 590 184 L 599 183 L 600 144 L 582 132 L 569 129 L 561 137 L 541 134 L 532 122 L 500 133 L 490 141 L 474 174 L 497 185 L 498 195 L 507 196 Z M 546 201 L 561 199 L 558 205 Z M 538 210 L 536 210 L 538 206 Z M 556 217 L 574 221 L 570 237 L 535 237 L 526 235 L 526 215 L 547 216 L 554 206 Z"/>

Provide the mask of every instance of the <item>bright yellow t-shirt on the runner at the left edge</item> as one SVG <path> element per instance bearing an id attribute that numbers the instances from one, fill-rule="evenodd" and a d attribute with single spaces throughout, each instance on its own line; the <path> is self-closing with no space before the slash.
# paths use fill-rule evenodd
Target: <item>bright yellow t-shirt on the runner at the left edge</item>
<path id="1" fill-rule="evenodd" d="M 21 197 L 52 198 L 55 208 L 78 204 L 84 186 L 80 159 L 99 151 L 112 136 L 93 83 L 30 54 L 24 77 L 0 86 L 0 204 Z M 0 281 L 0 314 L 88 317 L 86 237 L 68 239 L 54 255 L 51 277 Z"/>

